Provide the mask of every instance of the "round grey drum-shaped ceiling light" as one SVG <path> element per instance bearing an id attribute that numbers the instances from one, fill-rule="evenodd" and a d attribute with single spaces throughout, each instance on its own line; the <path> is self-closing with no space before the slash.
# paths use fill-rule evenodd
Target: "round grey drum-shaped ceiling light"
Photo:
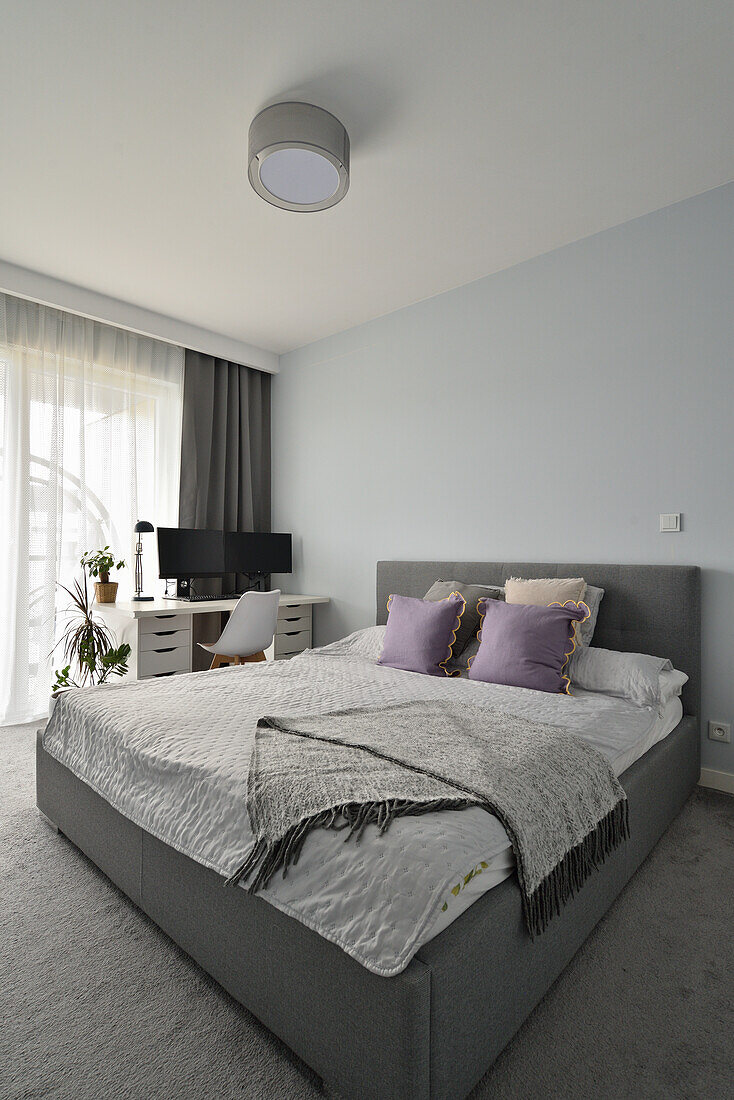
<path id="1" fill-rule="evenodd" d="M 248 175 L 283 210 L 326 210 L 349 190 L 349 134 L 313 103 L 274 103 L 250 127 Z"/>

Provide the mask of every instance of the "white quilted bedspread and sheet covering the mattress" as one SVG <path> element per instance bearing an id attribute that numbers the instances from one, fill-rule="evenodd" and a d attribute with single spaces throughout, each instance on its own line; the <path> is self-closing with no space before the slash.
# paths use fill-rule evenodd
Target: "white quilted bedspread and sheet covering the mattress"
<path id="1" fill-rule="evenodd" d="M 69 692 L 45 748 L 131 821 L 228 876 L 252 844 L 245 791 L 263 714 L 460 698 L 565 726 L 617 774 L 680 717 L 679 701 L 662 723 L 653 710 L 599 693 L 550 695 L 376 666 L 383 631 L 361 630 L 291 661 Z M 369 827 L 359 844 L 316 831 L 298 865 L 262 897 L 390 976 L 511 871 L 496 817 L 445 811 L 397 818 L 382 837 Z"/>

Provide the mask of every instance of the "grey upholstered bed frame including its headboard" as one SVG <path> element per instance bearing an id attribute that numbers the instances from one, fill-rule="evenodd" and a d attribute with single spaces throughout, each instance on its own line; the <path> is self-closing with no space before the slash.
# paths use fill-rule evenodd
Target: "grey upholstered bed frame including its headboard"
<path id="1" fill-rule="evenodd" d="M 262 898 L 121 816 L 45 752 L 37 804 L 180 947 L 278 1035 L 333 1094 L 375 1100 L 464 1097 L 603 917 L 678 814 L 700 772 L 700 571 L 682 565 L 380 562 L 377 623 L 391 592 L 436 580 L 584 576 L 605 588 L 594 645 L 670 657 L 690 676 L 684 717 L 622 776 L 631 838 L 535 942 L 515 877 L 490 890 L 380 978 Z M 195 1038 L 193 1040 L 195 1042 Z"/>

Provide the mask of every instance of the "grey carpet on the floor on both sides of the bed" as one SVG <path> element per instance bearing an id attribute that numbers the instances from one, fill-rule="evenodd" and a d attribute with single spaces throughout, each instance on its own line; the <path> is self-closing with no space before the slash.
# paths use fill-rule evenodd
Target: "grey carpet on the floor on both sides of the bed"
<path id="1" fill-rule="evenodd" d="M 0 728 L 0 1097 L 321 1096 L 43 824 L 34 728 Z M 472 1100 L 719 1100 L 733 1047 L 734 799 L 699 790 Z"/>

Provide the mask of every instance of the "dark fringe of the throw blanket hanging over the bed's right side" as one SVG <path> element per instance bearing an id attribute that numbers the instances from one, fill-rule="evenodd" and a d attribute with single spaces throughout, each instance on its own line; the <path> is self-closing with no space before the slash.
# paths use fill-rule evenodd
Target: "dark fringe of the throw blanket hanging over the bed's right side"
<path id="1" fill-rule="evenodd" d="M 580 844 L 563 856 L 532 894 L 521 890 L 525 923 L 533 939 L 545 931 L 554 914 L 560 914 L 561 905 L 573 898 L 592 870 L 603 864 L 628 836 L 629 813 L 625 798 L 602 817 Z M 522 882 L 519 865 L 518 875 Z"/>

